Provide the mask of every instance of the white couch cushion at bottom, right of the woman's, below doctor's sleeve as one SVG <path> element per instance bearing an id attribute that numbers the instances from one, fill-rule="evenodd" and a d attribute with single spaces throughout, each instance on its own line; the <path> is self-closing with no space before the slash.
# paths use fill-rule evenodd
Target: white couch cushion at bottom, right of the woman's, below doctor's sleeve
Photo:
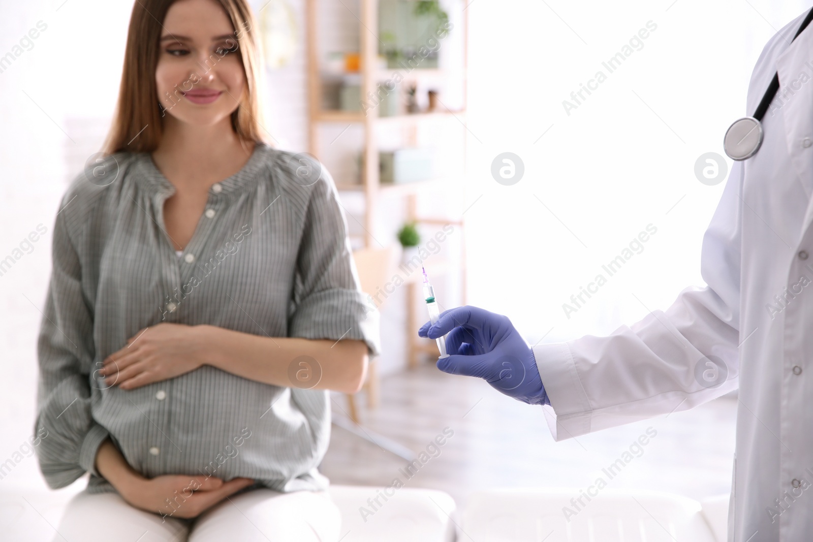
<path id="1" fill-rule="evenodd" d="M 698 501 L 661 492 L 605 488 L 587 501 L 578 488 L 473 493 L 463 532 L 477 542 L 646 540 L 716 542 Z M 571 499 L 582 496 L 581 504 Z M 567 513 L 564 508 L 573 514 Z"/>

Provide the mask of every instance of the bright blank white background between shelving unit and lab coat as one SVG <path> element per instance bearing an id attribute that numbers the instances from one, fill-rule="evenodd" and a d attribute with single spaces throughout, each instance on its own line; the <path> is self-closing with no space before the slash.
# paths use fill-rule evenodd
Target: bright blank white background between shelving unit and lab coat
<path id="1" fill-rule="evenodd" d="M 724 183 L 701 184 L 694 163 L 724 155 L 763 45 L 810 5 L 472 2 L 472 304 L 510 315 L 533 344 L 549 332 L 546 342 L 610 333 L 703 285 L 702 234 Z M 563 100 L 607 73 L 602 61 L 650 20 L 657 29 L 643 48 L 568 116 Z M 506 151 L 525 166 L 513 186 L 489 172 Z M 644 251 L 567 319 L 563 303 L 649 223 L 658 232 Z"/>

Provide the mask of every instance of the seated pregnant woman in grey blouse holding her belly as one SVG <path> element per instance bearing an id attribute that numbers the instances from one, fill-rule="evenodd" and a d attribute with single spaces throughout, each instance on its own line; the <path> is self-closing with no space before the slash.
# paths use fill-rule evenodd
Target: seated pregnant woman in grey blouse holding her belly
<path id="1" fill-rule="evenodd" d="M 103 157 L 54 223 L 38 343 L 54 540 L 338 540 L 328 389 L 378 323 L 327 171 L 263 141 L 245 0 L 137 0 Z M 261 118 L 261 117 L 260 117 Z"/>

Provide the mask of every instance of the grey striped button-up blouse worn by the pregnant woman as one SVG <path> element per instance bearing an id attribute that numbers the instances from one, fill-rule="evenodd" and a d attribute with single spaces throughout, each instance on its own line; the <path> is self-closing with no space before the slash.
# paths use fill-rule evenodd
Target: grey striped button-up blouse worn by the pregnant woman
<path id="1" fill-rule="evenodd" d="M 61 488 L 89 471 L 90 492 L 115 491 L 93 470 L 110 436 L 147 477 L 327 488 L 317 470 L 330 438 L 325 390 L 207 365 L 129 391 L 98 375 L 103 359 L 161 322 L 364 340 L 378 353 L 378 314 L 359 290 L 336 187 L 318 163 L 257 144 L 241 171 L 212 185 L 180 258 L 163 228 L 174 191 L 150 154 L 120 153 L 83 171 L 63 197 L 37 345 L 46 482 Z"/>

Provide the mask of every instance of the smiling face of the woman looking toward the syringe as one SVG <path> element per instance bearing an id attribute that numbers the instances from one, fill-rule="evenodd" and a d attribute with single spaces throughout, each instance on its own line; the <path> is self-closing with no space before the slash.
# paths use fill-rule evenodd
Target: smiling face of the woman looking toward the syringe
<path id="1" fill-rule="evenodd" d="M 237 109 L 246 72 L 237 33 L 215 0 L 178 0 L 163 20 L 155 83 L 163 115 L 217 124 Z"/>

